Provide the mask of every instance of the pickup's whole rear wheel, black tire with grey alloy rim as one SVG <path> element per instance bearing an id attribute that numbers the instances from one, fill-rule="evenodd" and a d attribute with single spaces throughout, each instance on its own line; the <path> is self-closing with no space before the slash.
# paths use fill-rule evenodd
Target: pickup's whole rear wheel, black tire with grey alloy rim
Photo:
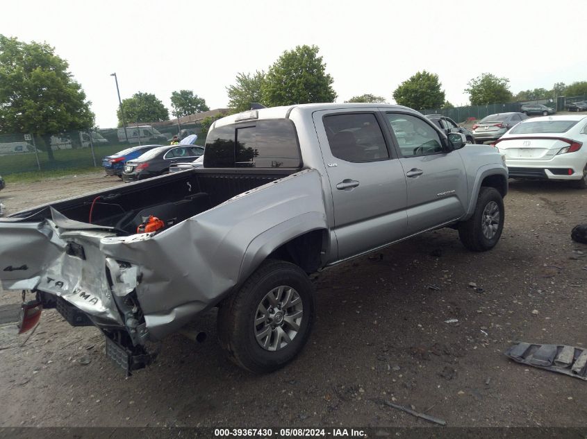
<path id="1" fill-rule="evenodd" d="M 306 344 L 314 289 L 301 268 L 267 260 L 220 306 L 218 338 L 229 358 L 254 373 L 273 372 Z"/>

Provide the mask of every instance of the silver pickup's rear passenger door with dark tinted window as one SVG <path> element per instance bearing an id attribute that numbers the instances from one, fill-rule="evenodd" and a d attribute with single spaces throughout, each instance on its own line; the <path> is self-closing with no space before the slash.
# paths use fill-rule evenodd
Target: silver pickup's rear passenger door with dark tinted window
<path id="1" fill-rule="evenodd" d="M 331 185 L 338 259 L 406 236 L 406 177 L 377 111 L 313 114 Z"/>

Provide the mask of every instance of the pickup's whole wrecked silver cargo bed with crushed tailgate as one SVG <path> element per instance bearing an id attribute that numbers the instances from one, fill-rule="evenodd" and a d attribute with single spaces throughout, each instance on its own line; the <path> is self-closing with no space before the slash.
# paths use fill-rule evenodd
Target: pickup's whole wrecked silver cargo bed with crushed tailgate
<path id="1" fill-rule="evenodd" d="M 99 327 L 129 372 L 153 359 L 147 341 L 246 278 L 275 233 L 325 227 L 320 188 L 312 170 L 195 169 L 19 212 L 0 219 L 1 286 Z M 163 229 L 138 234 L 149 216 Z"/>

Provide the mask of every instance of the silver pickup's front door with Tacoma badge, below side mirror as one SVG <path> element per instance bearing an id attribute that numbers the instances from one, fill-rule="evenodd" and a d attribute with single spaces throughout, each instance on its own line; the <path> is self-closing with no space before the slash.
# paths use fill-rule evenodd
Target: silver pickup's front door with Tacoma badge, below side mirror
<path id="1" fill-rule="evenodd" d="M 447 152 L 440 133 L 424 118 L 386 112 L 385 119 L 406 175 L 408 234 L 461 218 L 468 187 L 458 151 Z"/>

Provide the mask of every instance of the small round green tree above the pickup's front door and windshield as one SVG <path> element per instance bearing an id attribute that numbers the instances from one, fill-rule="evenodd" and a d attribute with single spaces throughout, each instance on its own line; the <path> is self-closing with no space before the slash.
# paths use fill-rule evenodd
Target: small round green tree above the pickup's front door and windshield
<path id="1" fill-rule="evenodd" d="M 445 92 L 441 86 L 437 74 L 422 70 L 404 80 L 393 92 L 393 98 L 399 105 L 414 110 L 438 108 L 445 103 Z"/>

